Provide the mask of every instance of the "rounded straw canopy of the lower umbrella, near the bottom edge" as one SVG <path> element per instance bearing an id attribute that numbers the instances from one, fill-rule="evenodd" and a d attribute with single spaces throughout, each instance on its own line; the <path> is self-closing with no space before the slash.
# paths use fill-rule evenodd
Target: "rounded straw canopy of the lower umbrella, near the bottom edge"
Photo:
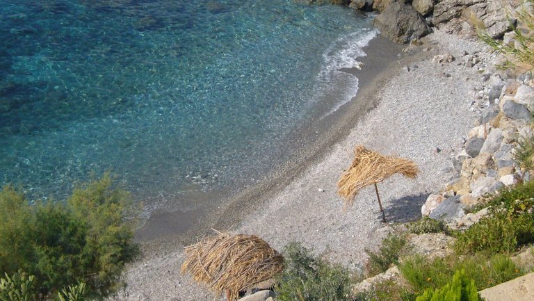
<path id="1" fill-rule="evenodd" d="M 240 291 L 256 288 L 282 272 L 284 258 L 258 236 L 217 236 L 185 248 L 187 259 L 181 273 L 191 272 L 216 293 L 227 293 L 227 300 L 237 300 Z"/>

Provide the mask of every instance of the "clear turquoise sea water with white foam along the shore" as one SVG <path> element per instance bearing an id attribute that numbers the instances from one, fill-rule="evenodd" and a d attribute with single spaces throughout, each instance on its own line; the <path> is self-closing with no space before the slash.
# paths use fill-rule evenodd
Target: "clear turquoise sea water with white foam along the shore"
<path id="1" fill-rule="evenodd" d="M 147 212 L 252 183 L 357 90 L 370 19 L 293 0 L 0 0 L 0 183 L 112 170 Z"/>

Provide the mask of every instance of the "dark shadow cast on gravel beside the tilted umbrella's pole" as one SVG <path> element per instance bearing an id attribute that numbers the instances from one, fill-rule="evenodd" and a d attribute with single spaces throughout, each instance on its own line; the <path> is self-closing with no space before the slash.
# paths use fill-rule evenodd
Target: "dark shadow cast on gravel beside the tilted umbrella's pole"
<path id="1" fill-rule="evenodd" d="M 430 193 L 407 195 L 391 200 L 385 209 L 387 222 L 413 222 L 421 218 L 421 206 Z"/>

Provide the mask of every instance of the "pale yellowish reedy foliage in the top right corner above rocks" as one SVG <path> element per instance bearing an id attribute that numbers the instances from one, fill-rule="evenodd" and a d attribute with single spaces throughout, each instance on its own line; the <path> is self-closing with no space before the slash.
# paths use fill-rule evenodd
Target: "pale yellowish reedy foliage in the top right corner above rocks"
<path id="1" fill-rule="evenodd" d="M 534 66 L 534 35 L 532 34 L 534 32 L 534 14 L 526 7 L 533 3 L 534 0 L 524 1 L 523 8 L 515 16 L 517 17 L 518 24 L 522 26 L 522 30 L 510 21 L 510 27 L 515 33 L 515 40 L 517 42 L 505 44 L 501 40 L 494 39 L 487 31 L 478 32 L 480 39 L 496 52 L 506 57 L 505 62 L 497 67 L 508 69 L 515 67 L 516 63 L 524 63 L 528 66 L 529 70 L 532 70 Z"/>

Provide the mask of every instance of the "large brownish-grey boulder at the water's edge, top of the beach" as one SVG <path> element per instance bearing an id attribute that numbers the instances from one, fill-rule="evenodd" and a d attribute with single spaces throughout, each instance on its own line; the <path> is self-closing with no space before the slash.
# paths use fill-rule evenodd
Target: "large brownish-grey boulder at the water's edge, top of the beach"
<path id="1" fill-rule="evenodd" d="M 382 35 L 397 44 L 405 44 L 432 32 L 421 14 L 415 8 L 401 2 L 392 3 L 378 15 L 373 25 Z"/>

